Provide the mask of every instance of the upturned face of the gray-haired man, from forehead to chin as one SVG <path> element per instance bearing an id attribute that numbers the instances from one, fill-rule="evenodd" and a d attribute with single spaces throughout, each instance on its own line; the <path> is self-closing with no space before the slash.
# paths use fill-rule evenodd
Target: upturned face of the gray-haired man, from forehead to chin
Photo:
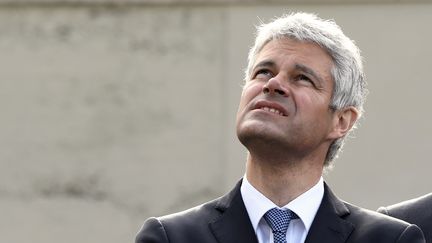
<path id="1" fill-rule="evenodd" d="M 316 44 L 286 38 L 264 46 L 237 113 L 237 135 L 250 152 L 263 146 L 275 153 L 327 150 L 335 139 L 332 66 Z"/>

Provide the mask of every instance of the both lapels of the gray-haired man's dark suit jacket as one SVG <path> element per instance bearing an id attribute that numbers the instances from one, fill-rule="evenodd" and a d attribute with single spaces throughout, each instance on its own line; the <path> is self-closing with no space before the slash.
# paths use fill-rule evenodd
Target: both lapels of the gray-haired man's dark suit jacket
<path id="1" fill-rule="evenodd" d="M 240 193 L 241 183 L 240 180 L 231 192 L 218 200 L 215 206 L 221 216 L 209 225 L 218 242 L 258 243 Z M 354 230 L 354 225 L 344 219 L 349 214 L 346 205 L 324 183 L 324 197 L 305 243 L 346 242 Z"/>

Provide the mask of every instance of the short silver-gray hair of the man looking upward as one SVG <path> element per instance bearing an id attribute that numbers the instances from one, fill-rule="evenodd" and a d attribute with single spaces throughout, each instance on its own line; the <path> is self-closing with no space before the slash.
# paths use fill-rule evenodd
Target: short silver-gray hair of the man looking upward
<path id="1" fill-rule="evenodd" d="M 292 13 L 258 26 L 255 44 L 249 50 L 245 80 L 250 80 L 253 65 L 261 49 L 269 41 L 283 38 L 316 43 L 325 49 L 334 64 L 331 70 L 334 88 L 330 108 L 339 110 L 353 106 L 361 116 L 367 89 L 360 50 L 333 20 L 323 20 L 315 14 Z M 353 128 L 356 125 L 357 121 Z M 330 145 L 325 166 L 337 158 L 345 137 L 336 139 Z"/>

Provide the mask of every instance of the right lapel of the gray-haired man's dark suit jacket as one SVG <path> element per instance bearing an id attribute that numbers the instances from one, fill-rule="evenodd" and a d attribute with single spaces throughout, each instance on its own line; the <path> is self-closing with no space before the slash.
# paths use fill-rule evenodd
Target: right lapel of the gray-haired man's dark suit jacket
<path id="1" fill-rule="evenodd" d="M 346 242 L 354 229 L 354 225 L 343 219 L 350 212 L 324 184 L 324 197 L 312 222 L 305 243 L 315 242 Z"/>

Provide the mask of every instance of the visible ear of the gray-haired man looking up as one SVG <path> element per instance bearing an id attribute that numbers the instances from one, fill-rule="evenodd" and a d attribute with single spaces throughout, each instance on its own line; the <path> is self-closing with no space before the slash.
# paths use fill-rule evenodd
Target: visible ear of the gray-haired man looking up
<path id="1" fill-rule="evenodd" d="M 349 106 L 334 112 L 333 130 L 329 134 L 330 139 L 338 139 L 345 136 L 359 117 L 355 107 Z"/>

